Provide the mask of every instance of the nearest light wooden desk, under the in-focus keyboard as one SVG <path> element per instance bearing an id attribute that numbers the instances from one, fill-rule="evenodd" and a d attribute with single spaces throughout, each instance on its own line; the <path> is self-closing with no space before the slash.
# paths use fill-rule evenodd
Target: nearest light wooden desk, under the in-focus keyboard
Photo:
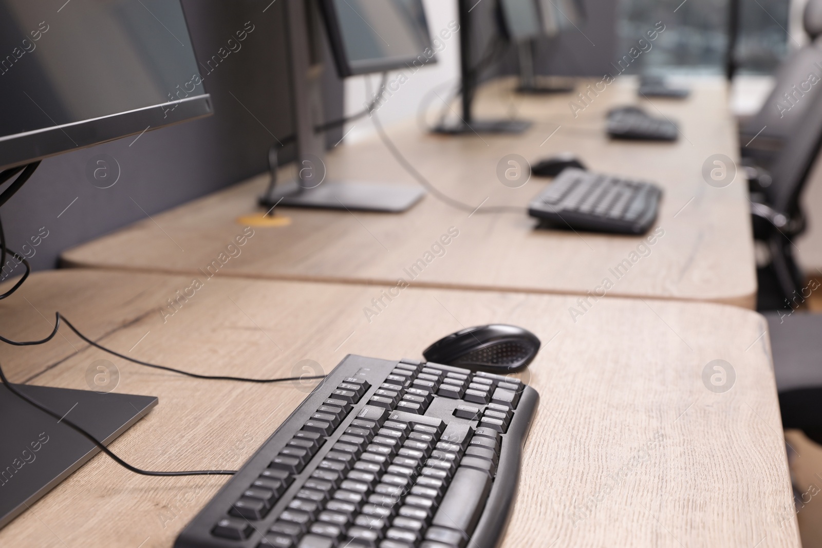
<path id="1" fill-rule="evenodd" d="M 407 288 L 369 323 L 379 288 L 211 279 L 173 316 L 159 309 L 190 277 L 63 270 L 34 274 L 0 302 L 0 332 L 40 337 L 57 309 L 134 357 L 205 374 L 326 371 L 347 353 L 419 357 L 462 326 L 527 326 L 543 349 L 524 376 L 541 394 L 502 546 L 799 546 L 765 321 L 708 303 L 606 299 L 576 322 L 578 297 Z M 7 285 L 4 287 L 8 287 Z M 710 321 L 706 321 L 709 318 Z M 238 467 L 305 393 L 192 380 L 113 358 L 71 332 L 47 347 L 0 346 L 12 380 L 88 388 L 109 359 L 119 392 L 159 406 L 116 440 L 155 470 Z M 704 366 L 736 382 L 706 389 Z M 151 478 L 98 455 L 0 531 L 0 546 L 169 548 L 222 477 Z"/>

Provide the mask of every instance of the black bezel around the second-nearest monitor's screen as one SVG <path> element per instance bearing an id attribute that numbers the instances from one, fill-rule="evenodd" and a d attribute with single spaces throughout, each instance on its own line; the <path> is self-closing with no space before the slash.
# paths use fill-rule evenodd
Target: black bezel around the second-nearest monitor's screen
<path id="1" fill-rule="evenodd" d="M 334 5 L 334 0 L 318 0 L 320 10 L 322 12 L 322 19 L 326 24 L 326 31 L 328 40 L 331 46 L 331 53 L 334 56 L 334 62 L 337 67 L 337 74 L 340 78 L 348 78 L 349 76 L 360 76 L 363 74 L 372 74 L 374 72 L 395 71 L 405 68 L 413 67 L 414 62 L 420 64 L 417 67 L 422 67 L 428 63 L 436 62 L 436 55 L 434 54 L 433 44 L 431 39 L 431 29 L 428 28 L 427 33 L 427 51 L 432 53 L 428 58 L 425 55 L 418 55 L 417 57 L 397 57 L 386 59 L 375 59 L 367 61 L 349 62 L 345 56 L 345 45 L 343 42 L 343 33 L 339 27 L 339 16 L 337 8 Z M 423 12 L 424 16 L 424 12 Z M 428 27 L 428 21 L 425 21 Z"/>

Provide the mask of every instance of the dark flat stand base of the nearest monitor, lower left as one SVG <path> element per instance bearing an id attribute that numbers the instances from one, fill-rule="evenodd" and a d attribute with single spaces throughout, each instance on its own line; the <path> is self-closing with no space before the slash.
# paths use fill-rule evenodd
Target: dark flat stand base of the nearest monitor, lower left
<path id="1" fill-rule="evenodd" d="M 157 398 L 15 385 L 110 444 L 157 405 Z M 0 384 L 0 528 L 81 467 L 99 448 Z"/>

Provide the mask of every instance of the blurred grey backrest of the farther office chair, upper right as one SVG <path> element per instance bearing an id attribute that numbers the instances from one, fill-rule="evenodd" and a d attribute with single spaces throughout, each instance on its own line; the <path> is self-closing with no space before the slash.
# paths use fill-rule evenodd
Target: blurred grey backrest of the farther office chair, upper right
<path id="1" fill-rule="evenodd" d="M 760 112 L 740 125 L 743 163 L 770 168 L 779 150 L 804 120 L 810 104 L 820 95 L 822 0 L 808 0 L 802 22 L 810 43 L 792 53 L 778 67 L 774 90 Z M 820 81 L 810 83 L 810 74 Z"/>

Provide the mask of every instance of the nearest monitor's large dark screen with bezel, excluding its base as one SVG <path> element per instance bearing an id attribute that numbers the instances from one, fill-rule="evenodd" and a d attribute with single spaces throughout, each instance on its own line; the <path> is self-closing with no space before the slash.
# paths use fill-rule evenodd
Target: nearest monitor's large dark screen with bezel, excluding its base
<path id="1" fill-rule="evenodd" d="M 179 0 L 0 0 L 0 167 L 210 113 Z"/>

